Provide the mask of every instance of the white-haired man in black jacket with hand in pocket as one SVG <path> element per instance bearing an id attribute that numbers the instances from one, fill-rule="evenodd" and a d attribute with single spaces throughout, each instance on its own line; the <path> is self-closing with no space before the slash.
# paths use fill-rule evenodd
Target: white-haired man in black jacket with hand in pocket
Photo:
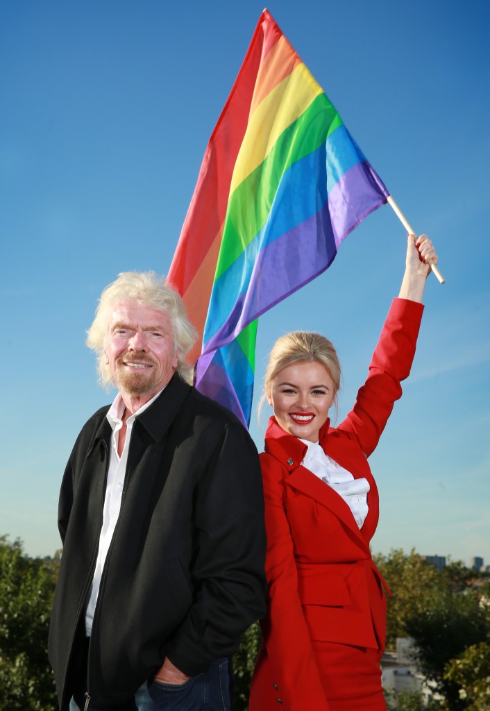
<path id="1" fill-rule="evenodd" d="M 61 486 L 49 658 L 62 711 L 228 709 L 228 658 L 265 614 L 257 451 L 184 382 L 195 337 L 153 272 L 102 292 L 87 345 L 119 392 Z"/>

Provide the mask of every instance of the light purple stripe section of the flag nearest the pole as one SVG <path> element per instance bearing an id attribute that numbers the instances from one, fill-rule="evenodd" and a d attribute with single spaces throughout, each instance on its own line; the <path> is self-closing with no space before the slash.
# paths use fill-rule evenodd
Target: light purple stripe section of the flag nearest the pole
<path id="1" fill-rule="evenodd" d="M 388 190 L 371 164 L 348 169 L 329 193 L 331 223 L 337 247 L 369 213 L 384 205 Z"/>

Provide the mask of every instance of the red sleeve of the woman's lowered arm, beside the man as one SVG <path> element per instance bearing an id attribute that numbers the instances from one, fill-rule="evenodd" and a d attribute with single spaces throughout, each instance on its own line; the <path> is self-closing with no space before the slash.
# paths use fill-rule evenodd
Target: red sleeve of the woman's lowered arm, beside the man
<path id="1" fill-rule="evenodd" d="M 281 465 L 260 455 L 267 533 L 268 610 L 261 621 L 267 656 L 284 707 L 328 711 L 298 594 L 296 562 L 284 506 Z"/>

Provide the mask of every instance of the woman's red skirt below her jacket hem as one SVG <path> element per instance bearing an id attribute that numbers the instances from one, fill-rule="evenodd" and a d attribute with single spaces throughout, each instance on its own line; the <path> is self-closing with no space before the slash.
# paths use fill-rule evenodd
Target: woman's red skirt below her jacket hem
<path id="1" fill-rule="evenodd" d="M 330 711 L 386 711 L 381 687 L 381 651 L 334 642 L 311 641 L 316 666 Z M 278 711 L 267 652 L 260 649 L 250 690 L 250 711 Z M 302 705 L 301 690 L 294 700 L 281 700 L 291 711 L 314 711 Z"/>

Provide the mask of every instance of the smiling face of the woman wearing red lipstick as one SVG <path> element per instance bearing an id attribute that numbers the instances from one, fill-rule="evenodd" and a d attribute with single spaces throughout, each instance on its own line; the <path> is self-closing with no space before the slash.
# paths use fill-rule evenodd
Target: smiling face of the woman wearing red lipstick
<path id="1" fill-rule="evenodd" d="M 316 442 L 334 397 L 334 381 L 324 365 L 304 360 L 279 370 L 268 399 L 282 429 L 299 439 Z"/>

